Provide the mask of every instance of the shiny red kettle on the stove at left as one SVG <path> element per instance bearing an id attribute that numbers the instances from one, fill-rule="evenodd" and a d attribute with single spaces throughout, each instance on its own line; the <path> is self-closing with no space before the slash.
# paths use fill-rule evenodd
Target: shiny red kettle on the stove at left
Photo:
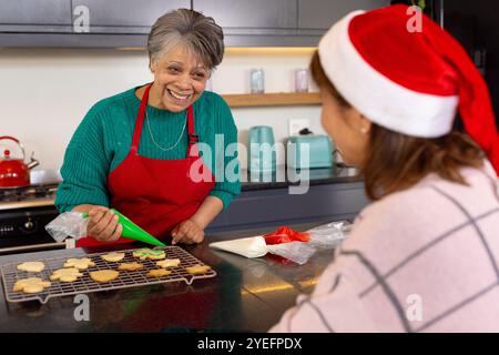
<path id="1" fill-rule="evenodd" d="M 31 161 L 26 164 L 24 148 L 19 140 L 13 136 L 3 135 L 0 140 L 14 141 L 22 151 L 22 160 L 10 156 L 10 151 L 6 149 L 0 159 L 0 189 L 24 187 L 30 185 L 30 169 L 37 166 L 39 161 L 31 154 Z"/>

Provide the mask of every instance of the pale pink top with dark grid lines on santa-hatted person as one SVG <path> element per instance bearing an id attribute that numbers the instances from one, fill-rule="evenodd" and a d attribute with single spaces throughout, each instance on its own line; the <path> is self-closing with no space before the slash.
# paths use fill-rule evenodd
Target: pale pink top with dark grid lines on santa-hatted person
<path id="1" fill-rule="evenodd" d="M 499 332 L 499 183 L 435 174 L 364 209 L 272 332 Z"/>

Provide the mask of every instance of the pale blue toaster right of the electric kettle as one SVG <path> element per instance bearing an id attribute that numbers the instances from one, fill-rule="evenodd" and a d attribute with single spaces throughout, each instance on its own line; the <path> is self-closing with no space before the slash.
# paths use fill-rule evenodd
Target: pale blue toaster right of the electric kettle
<path id="1" fill-rule="evenodd" d="M 328 135 L 312 134 L 308 129 L 287 141 L 287 165 L 294 169 L 333 166 L 333 142 Z"/>

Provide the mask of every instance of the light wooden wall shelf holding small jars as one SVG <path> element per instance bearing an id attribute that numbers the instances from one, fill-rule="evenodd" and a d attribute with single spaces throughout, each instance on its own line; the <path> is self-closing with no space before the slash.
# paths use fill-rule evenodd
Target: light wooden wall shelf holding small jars
<path id="1" fill-rule="evenodd" d="M 222 95 L 231 108 L 320 104 L 318 92 L 277 92 Z"/>

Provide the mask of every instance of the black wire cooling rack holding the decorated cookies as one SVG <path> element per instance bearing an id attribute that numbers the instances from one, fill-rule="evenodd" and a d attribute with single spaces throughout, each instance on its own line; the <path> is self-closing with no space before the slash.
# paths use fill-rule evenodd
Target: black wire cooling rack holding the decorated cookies
<path id="1" fill-rule="evenodd" d="M 55 258 L 47 258 L 47 260 L 32 260 L 43 262 L 45 264 L 45 268 L 40 273 L 31 273 L 17 270 L 17 266 L 21 262 L 10 263 L 0 266 L 1 276 L 3 282 L 3 291 L 6 294 L 6 300 L 8 302 L 26 302 L 26 301 L 40 301 L 40 303 L 44 304 L 50 298 L 77 295 L 82 293 L 91 293 L 91 292 L 100 292 L 100 291 L 111 291 L 119 288 L 131 288 L 139 287 L 144 285 L 153 285 L 153 284 L 163 284 L 169 282 L 185 282 L 187 285 L 191 285 L 194 280 L 198 278 L 208 278 L 216 276 L 216 272 L 212 268 L 206 271 L 203 274 L 192 275 L 186 272 L 185 267 L 194 266 L 194 265 L 205 265 L 198 258 L 194 257 L 180 246 L 165 246 L 165 247 L 155 247 L 155 250 L 164 250 L 166 254 L 166 258 L 179 258 L 181 262 L 179 266 L 167 267 L 172 273 L 166 276 L 161 277 L 147 277 L 146 274 L 151 270 L 161 268 L 156 265 L 155 260 L 140 260 L 139 257 L 134 257 L 132 254 L 135 250 L 124 250 L 124 251 L 113 251 L 114 253 L 125 253 L 125 256 L 120 262 L 106 262 L 101 255 L 108 254 L 105 253 L 95 253 L 88 254 L 79 257 L 89 257 L 94 263 L 95 266 L 89 266 L 88 270 L 81 270 L 80 273 L 83 276 L 80 276 L 74 282 L 60 282 L 60 281 L 50 281 L 50 275 L 55 270 L 63 268 L 63 264 L 70 257 L 74 256 L 62 256 Z M 141 263 L 144 267 L 138 271 L 121 271 L 118 270 L 118 266 L 121 263 Z M 90 277 L 89 273 L 93 271 L 100 270 L 115 270 L 120 272 L 118 278 L 99 283 Z M 17 281 L 27 277 L 40 277 L 43 281 L 50 281 L 51 286 L 44 288 L 42 292 L 37 294 L 26 294 L 23 292 L 13 292 L 13 285 Z"/>

